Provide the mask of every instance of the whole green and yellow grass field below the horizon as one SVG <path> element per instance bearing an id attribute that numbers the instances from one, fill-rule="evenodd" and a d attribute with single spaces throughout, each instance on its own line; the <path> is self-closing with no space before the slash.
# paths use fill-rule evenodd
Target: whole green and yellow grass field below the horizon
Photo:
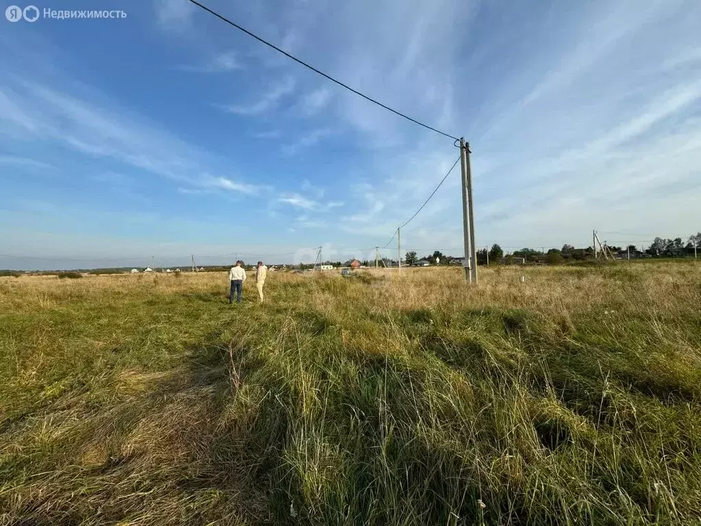
<path id="1" fill-rule="evenodd" d="M 0 524 L 701 521 L 701 264 L 266 285 L 0 278 Z"/>

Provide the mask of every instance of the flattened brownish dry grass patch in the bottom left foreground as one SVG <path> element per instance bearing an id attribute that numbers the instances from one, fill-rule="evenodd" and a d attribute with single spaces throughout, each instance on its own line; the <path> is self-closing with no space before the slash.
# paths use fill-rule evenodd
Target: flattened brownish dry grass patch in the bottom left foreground
<path id="1" fill-rule="evenodd" d="M 254 447 L 255 425 L 229 414 L 259 367 L 246 349 L 231 349 L 212 333 L 189 349 L 182 367 L 144 376 L 123 402 L 81 407 L 82 422 L 64 440 L 53 433 L 45 457 L 0 463 L 4 523 L 264 523 L 264 475 L 277 467 L 282 447 Z M 282 416 L 260 420 L 279 427 Z"/>

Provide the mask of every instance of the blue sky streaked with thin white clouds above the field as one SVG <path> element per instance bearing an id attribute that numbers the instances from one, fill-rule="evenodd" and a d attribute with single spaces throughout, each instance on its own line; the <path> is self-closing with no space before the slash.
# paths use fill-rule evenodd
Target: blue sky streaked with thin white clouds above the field
<path id="1" fill-rule="evenodd" d="M 106 2 L 0 18 L 0 268 L 374 258 L 458 158 L 187 0 Z M 701 230 L 696 0 L 204 3 L 465 137 L 477 245 Z M 461 255 L 462 224 L 458 166 L 402 254 Z"/>

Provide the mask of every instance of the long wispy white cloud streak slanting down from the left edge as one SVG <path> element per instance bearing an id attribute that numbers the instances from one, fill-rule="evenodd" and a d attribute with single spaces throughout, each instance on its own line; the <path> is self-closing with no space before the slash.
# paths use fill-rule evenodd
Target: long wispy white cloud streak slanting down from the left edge
<path id="1" fill-rule="evenodd" d="M 231 163 L 193 147 L 109 101 L 88 102 L 90 95 L 99 96 L 84 86 L 76 89 L 84 92 L 85 97 L 79 97 L 39 83 L 17 82 L 19 87 L 15 89 L 0 86 L 4 95 L 0 97 L 0 133 L 22 139 L 16 133 L 19 126 L 21 132 L 29 134 L 26 140 L 46 140 L 80 154 L 118 161 L 173 180 L 181 187 L 213 184 L 247 194 L 258 191 L 257 185 L 239 180 L 197 175 L 203 173 L 203 168 L 215 174 L 222 166 L 230 171 Z"/>

